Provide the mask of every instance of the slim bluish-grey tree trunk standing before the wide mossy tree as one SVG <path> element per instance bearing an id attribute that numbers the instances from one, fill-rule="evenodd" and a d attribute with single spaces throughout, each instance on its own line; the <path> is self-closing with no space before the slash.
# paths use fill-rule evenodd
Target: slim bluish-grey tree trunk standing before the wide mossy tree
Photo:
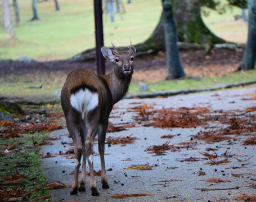
<path id="1" fill-rule="evenodd" d="M 167 54 L 167 80 L 185 76 L 179 56 L 178 36 L 173 17 L 172 0 L 162 0 L 164 13 L 165 49 Z"/>

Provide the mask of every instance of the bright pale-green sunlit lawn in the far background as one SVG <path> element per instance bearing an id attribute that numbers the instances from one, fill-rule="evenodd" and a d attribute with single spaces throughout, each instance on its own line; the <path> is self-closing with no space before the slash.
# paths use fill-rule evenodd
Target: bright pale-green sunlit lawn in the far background
<path id="1" fill-rule="evenodd" d="M 147 0 L 133 0 L 131 4 L 127 4 L 127 0 L 123 2 L 126 12 L 122 15 L 116 13 L 115 22 L 110 22 L 109 16 L 104 14 L 106 46 L 111 45 L 110 39 L 116 46 L 128 45 L 128 36 L 131 36 L 134 44 L 143 42 L 158 24 L 162 10 L 159 0 L 151 0 L 150 3 Z M 30 21 L 31 0 L 18 3 L 21 22 L 15 24 L 17 40 L 7 40 L 3 26 L 0 27 L 0 58 L 28 56 L 40 61 L 65 59 L 95 46 L 93 1 L 61 0 L 60 11 L 55 11 L 54 1 L 37 3 L 38 21 Z M 14 12 L 13 7 L 11 11 Z M 245 42 L 247 23 L 234 21 L 235 14 L 240 14 L 238 8 L 224 15 L 211 11 L 204 21 L 224 39 Z"/>

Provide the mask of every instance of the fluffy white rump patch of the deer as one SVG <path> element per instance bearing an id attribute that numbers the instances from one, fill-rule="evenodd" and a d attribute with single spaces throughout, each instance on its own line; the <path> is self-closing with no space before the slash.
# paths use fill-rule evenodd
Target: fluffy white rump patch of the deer
<path id="1" fill-rule="evenodd" d="M 88 89 L 80 89 L 70 97 L 70 104 L 82 114 L 82 119 L 86 112 L 91 111 L 98 105 L 98 94 Z"/>

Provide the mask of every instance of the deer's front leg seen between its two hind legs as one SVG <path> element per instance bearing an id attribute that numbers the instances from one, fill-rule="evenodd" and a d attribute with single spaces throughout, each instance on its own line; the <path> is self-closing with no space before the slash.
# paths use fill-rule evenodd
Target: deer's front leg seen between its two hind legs
<path id="1" fill-rule="evenodd" d="M 83 163 L 82 163 L 82 173 L 79 180 L 78 191 L 86 191 L 86 136 L 87 136 L 87 128 L 85 123 L 80 123 L 80 136 L 83 144 Z"/>

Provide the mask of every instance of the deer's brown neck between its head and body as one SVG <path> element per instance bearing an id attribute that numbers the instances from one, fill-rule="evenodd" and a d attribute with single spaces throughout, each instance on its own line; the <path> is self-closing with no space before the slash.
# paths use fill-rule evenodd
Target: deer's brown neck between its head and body
<path id="1" fill-rule="evenodd" d="M 105 80 L 109 85 L 109 89 L 112 95 L 113 104 L 117 103 L 124 97 L 129 89 L 129 84 L 132 79 L 132 75 L 118 77 L 114 70 L 105 75 Z"/>

